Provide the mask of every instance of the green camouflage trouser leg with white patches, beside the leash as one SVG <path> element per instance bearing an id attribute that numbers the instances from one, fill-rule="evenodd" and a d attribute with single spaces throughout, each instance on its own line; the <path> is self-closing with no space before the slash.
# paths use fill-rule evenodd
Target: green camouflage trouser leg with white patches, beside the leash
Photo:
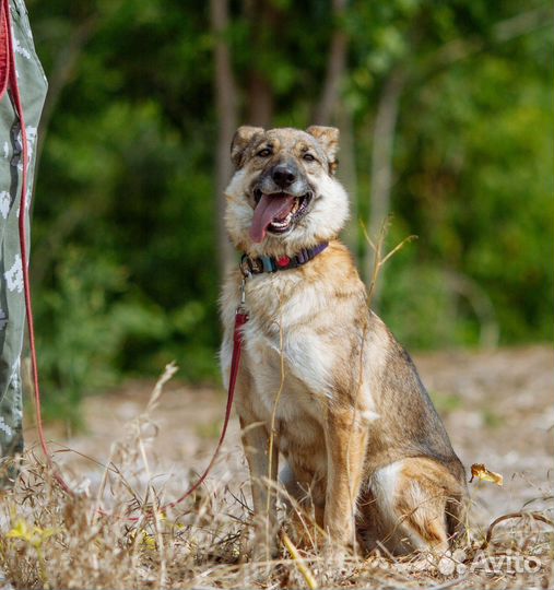
<path id="1" fill-rule="evenodd" d="M 28 169 L 26 211 L 33 187 L 37 128 L 47 82 L 35 52 L 27 11 L 23 0 L 11 0 L 15 69 L 27 132 Z M 0 485 L 14 475 L 11 459 L 23 450 L 21 352 L 25 330 L 25 302 L 19 237 L 22 181 L 21 126 L 11 96 L 0 102 Z"/>

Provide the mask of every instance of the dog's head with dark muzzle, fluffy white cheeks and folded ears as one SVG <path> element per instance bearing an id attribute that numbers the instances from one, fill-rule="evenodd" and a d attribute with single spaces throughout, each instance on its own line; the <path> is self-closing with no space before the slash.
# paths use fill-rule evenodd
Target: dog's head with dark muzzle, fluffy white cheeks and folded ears
<path id="1" fill-rule="evenodd" d="M 349 200 L 334 178 L 339 130 L 239 127 L 231 146 L 236 172 L 225 190 L 226 226 L 250 255 L 294 255 L 334 238 Z"/>

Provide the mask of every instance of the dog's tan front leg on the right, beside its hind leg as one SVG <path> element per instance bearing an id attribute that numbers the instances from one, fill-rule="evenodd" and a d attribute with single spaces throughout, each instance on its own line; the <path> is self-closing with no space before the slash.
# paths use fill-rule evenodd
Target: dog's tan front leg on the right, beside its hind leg
<path id="1" fill-rule="evenodd" d="M 325 529 L 333 542 L 355 545 L 356 499 L 362 485 L 367 427 L 354 408 L 328 410 Z"/>

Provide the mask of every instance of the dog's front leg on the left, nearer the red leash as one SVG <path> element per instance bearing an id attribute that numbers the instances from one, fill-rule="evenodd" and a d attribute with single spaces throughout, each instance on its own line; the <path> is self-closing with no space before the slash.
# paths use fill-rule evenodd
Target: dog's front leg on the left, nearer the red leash
<path id="1" fill-rule="evenodd" d="M 270 559 L 276 551 L 276 477 L 279 449 L 266 424 L 240 412 L 240 428 L 248 467 L 256 527 L 257 557 Z M 270 449 L 271 447 L 271 449 Z"/>

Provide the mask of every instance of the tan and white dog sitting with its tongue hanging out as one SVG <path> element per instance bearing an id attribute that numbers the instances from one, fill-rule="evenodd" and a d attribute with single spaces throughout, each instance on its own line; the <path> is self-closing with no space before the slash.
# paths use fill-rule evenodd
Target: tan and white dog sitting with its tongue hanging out
<path id="1" fill-rule="evenodd" d="M 276 522 L 281 456 L 286 489 L 309 498 L 333 544 L 445 552 L 463 521 L 464 469 L 338 239 L 338 148 L 339 130 L 319 126 L 245 126 L 231 148 L 225 224 L 244 256 L 223 288 L 221 365 L 228 386 L 244 280 L 236 410 L 255 514 Z"/>

